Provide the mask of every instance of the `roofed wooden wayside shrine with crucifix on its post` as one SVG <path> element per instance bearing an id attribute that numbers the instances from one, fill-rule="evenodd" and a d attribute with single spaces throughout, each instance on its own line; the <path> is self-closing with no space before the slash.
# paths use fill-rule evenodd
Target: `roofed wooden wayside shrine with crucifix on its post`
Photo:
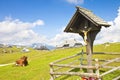
<path id="1" fill-rule="evenodd" d="M 64 32 L 78 33 L 82 36 L 86 45 L 88 66 L 92 66 L 93 42 L 95 37 L 103 26 L 109 27 L 110 25 L 93 14 L 92 11 L 78 6 L 76 8 L 77 10 Z M 88 69 L 88 73 L 92 72 L 93 70 Z"/>

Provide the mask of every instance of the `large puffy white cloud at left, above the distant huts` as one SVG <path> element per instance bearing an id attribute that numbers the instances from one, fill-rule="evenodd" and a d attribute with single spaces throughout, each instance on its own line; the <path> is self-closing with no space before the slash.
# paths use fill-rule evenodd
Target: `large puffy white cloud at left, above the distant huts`
<path id="1" fill-rule="evenodd" d="M 46 37 L 38 35 L 32 30 L 32 28 L 42 25 L 44 25 L 42 20 L 36 20 L 34 22 L 23 22 L 19 19 L 6 17 L 5 20 L 0 22 L 0 43 L 24 45 L 28 45 L 34 42 L 45 43 Z"/>

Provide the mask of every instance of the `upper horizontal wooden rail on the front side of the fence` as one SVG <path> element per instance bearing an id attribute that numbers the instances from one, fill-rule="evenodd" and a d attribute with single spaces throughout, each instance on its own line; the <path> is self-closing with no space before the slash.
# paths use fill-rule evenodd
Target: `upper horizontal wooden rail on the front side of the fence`
<path id="1" fill-rule="evenodd" d="M 85 69 L 97 69 L 95 66 L 82 66 L 82 65 L 68 65 L 68 64 L 52 64 L 57 67 L 68 67 L 68 68 L 85 68 Z"/>

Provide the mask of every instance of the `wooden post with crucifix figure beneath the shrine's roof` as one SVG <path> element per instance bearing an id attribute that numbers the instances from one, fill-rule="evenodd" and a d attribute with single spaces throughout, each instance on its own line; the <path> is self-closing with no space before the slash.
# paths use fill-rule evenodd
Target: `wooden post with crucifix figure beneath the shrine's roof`
<path id="1" fill-rule="evenodd" d="M 89 25 L 90 23 L 88 20 L 85 20 L 84 24 L 85 26 L 80 29 L 79 34 L 82 36 L 85 42 L 88 66 L 92 66 L 93 42 L 100 29 L 93 30 L 93 28 Z M 88 73 L 93 72 L 93 70 L 90 69 L 87 71 Z"/>

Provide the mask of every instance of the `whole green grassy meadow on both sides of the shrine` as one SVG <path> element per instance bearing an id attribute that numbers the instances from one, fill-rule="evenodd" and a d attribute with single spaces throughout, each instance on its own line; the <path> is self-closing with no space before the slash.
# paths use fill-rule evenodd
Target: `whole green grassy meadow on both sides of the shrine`
<path id="1" fill-rule="evenodd" d="M 13 53 L 2 53 L 0 49 L 0 64 L 15 62 L 21 56 L 27 56 L 29 65 L 26 67 L 14 67 L 13 65 L 0 67 L 0 80 L 49 80 L 49 63 L 55 60 L 74 55 L 81 52 L 82 48 L 56 49 L 51 51 L 38 51 L 30 49 L 30 52 L 23 53 L 20 49 L 11 48 Z M 85 51 L 85 47 L 83 47 Z M 120 53 L 120 43 L 111 43 L 95 45 L 95 52 L 117 52 Z M 86 57 L 86 54 L 84 54 Z M 120 54 L 93 54 L 93 58 L 113 59 L 120 57 Z M 102 63 L 101 63 L 102 64 Z M 111 66 L 120 66 L 118 62 L 109 64 Z M 101 72 L 106 71 L 102 69 Z M 120 70 L 104 76 L 103 80 L 112 80 L 120 75 Z M 63 76 L 57 80 L 80 80 L 78 76 Z"/>

